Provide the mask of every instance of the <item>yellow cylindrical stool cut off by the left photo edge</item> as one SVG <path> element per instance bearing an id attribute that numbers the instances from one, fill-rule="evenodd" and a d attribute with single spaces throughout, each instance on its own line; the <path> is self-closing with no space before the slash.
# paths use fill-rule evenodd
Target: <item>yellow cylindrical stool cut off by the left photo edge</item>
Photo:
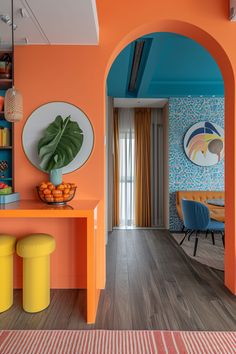
<path id="1" fill-rule="evenodd" d="M 13 253 L 16 238 L 0 235 L 0 312 L 13 304 Z"/>

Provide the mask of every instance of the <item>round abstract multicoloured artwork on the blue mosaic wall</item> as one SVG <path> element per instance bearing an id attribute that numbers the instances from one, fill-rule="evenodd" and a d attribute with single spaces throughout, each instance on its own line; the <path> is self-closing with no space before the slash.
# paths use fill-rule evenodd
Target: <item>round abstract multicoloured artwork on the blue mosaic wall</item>
<path id="1" fill-rule="evenodd" d="M 215 123 L 196 123 L 185 134 L 184 150 L 196 165 L 216 165 L 224 157 L 224 130 Z"/>

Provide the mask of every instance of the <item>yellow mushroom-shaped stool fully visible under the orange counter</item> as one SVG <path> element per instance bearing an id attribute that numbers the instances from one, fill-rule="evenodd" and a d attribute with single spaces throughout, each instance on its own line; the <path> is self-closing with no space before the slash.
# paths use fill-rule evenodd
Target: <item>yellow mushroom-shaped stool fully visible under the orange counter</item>
<path id="1" fill-rule="evenodd" d="M 23 309 L 39 312 L 50 304 L 50 254 L 55 240 L 47 234 L 32 234 L 17 242 L 23 257 Z"/>

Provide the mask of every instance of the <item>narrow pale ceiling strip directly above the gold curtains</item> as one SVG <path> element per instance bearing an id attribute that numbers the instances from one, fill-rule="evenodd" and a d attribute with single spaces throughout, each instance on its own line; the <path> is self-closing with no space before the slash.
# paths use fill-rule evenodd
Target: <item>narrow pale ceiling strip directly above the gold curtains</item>
<path id="1" fill-rule="evenodd" d="M 114 107 L 153 107 L 163 108 L 168 102 L 167 98 L 114 98 Z"/>

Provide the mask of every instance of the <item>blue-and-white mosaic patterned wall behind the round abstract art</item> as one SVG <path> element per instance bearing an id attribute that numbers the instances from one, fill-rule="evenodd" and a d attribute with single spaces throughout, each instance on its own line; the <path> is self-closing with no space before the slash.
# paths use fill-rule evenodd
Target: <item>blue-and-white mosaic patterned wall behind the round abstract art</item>
<path id="1" fill-rule="evenodd" d="M 208 120 L 224 127 L 224 98 L 170 98 L 169 100 L 169 191 L 170 230 L 181 230 L 175 207 L 177 190 L 223 190 L 224 160 L 201 167 L 185 155 L 183 138 L 197 122 Z"/>

